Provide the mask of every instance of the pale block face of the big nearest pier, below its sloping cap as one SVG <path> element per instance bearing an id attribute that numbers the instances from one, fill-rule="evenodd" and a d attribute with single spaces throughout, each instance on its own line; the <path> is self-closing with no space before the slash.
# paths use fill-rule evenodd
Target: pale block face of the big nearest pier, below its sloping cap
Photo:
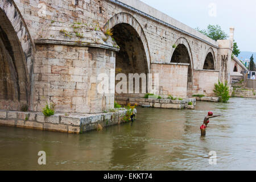
<path id="1" fill-rule="evenodd" d="M 113 108 L 114 93 L 98 93 L 101 80 L 97 76 L 106 73 L 110 77 L 115 52 L 54 44 L 36 49 L 32 110 L 42 111 L 49 101 L 62 112 L 97 113 Z"/>

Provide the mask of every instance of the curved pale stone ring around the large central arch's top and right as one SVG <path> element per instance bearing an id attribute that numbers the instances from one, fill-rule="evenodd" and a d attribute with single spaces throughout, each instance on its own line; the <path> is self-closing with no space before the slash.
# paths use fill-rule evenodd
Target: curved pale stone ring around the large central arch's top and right
<path id="1" fill-rule="evenodd" d="M 137 19 L 134 18 L 133 15 L 129 13 L 118 13 L 109 19 L 109 21 L 105 24 L 104 28 L 112 29 L 118 24 L 129 24 L 131 27 L 134 28 L 135 31 L 137 31 L 137 34 L 139 35 L 139 38 L 141 39 L 141 42 L 143 44 L 144 52 L 146 54 L 147 72 L 150 73 L 151 56 L 150 56 L 146 35 L 144 34 L 141 24 L 138 22 Z"/>

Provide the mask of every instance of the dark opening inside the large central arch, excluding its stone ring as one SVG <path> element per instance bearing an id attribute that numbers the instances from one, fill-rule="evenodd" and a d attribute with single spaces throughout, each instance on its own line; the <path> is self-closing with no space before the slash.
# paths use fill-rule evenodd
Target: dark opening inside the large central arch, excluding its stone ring
<path id="1" fill-rule="evenodd" d="M 115 93 L 116 96 L 142 97 L 147 93 L 147 56 L 138 32 L 127 23 L 119 23 L 112 29 L 113 38 L 120 50 L 115 55 L 115 75 L 123 73 L 127 78 L 127 93 Z M 129 81 L 129 74 L 141 76 L 139 78 L 139 92 L 133 78 L 133 83 Z M 122 80 L 123 81 L 123 80 Z M 119 81 L 115 81 L 115 85 Z M 129 85 L 132 85 L 129 87 Z M 146 88 L 145 88 L 146 86 Z M 116 90 L 117 91 L 117 90 Z"/>

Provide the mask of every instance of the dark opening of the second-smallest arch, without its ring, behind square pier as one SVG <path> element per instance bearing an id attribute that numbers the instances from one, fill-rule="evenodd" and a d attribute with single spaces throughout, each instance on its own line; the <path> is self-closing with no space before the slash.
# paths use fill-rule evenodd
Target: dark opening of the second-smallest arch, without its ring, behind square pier
<path id="1" fill-rule="evenodd" d="M 185 44 L 179 44 L 172 54 L 171 63 L 185 63 L 188 65 L 187 75 L 187 96 L 192 94 L 193 78 L 192 78 L 192 61 L 188 48 Z"/>

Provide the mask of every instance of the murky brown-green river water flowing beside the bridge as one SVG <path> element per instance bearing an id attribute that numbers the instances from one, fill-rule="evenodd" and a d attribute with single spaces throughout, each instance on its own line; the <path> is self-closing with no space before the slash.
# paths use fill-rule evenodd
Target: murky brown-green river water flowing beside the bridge
<path id="1" fill-rule="evenodd" d="M 255 106 L 232 98 L 197 102 L 195 110 L 138 108 L 134 123 L 81 135 L 0 126 L 0 170 L 256 170 Z M 224 115 L 200 137 L 208 111 Z"/>

